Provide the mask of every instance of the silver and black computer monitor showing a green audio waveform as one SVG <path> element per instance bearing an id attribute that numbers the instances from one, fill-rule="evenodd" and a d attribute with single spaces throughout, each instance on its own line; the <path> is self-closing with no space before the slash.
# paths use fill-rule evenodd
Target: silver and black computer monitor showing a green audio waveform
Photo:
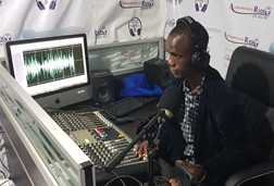
<path id="1" fill-rule="evenodd" d="M 85 34 L 12 40 L 5 51 L 11 75 L 42 108 L 91 98 Z"/>

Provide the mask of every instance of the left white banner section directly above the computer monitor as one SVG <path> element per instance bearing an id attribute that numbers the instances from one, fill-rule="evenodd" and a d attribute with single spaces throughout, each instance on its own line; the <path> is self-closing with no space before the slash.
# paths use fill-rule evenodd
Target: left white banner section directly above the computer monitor
<path id="1" fill-rule="evenodd" d="M 94 45 L 91 12 L 87 0 L 0 0 L 0 58 L 11 39 L 85 33 Z"/>

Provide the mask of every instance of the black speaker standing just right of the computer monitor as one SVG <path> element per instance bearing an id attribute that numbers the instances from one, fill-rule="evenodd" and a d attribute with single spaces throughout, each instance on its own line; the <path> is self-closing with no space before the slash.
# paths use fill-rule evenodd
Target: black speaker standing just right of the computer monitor
<path id="1" fill-rule="evenodd" d="M 92 102 L 103 104 L 114 100 L 113 75 L 110 70 L 91 71 Z"/>

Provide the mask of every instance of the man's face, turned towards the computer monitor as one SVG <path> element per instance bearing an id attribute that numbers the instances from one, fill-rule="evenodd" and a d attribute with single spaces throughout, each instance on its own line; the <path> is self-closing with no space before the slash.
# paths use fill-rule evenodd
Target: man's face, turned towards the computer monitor
<path id="1" fill-rule="evenodd" d="M 191 38 L 186 35 L 170 35 L 165 44 L 166 52 L 170 53 L 169 65 L 175 78 L 187 78 L 192 75 L 191 66 Z"/>

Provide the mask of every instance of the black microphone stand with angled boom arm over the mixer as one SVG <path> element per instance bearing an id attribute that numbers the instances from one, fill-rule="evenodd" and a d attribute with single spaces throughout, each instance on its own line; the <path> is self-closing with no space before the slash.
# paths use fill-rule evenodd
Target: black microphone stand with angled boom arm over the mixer
<path id="1" fill-rule="evenodd" d="M 115 166 L 125 158 L 126 153 L 139 141 L 139 139 L 144 135 L 148 135 L 149 129 L 154 125 L 155 122 L 158 122 L 159 117 L 164 114 L 164 110 L 161 110 L 159 114 L 153 116 L 150 122 L 142 127 L 141 132 L 132 140 L 132 142 L 121 152 L 119 152 L 105 166 L 104 170 L 107 172 L 111 172 Z M 153 186 L 153 157 L 154 152 L 150 148 L 154 148 L 154 142 L 152 137 L 150 136 L 148 139 L 149 144 L 149 153 L 148 153 L 148 161 L 149 161 L 149 171 L 148 171 L 148 179 L 149 179 L 149 186 Z"/>

